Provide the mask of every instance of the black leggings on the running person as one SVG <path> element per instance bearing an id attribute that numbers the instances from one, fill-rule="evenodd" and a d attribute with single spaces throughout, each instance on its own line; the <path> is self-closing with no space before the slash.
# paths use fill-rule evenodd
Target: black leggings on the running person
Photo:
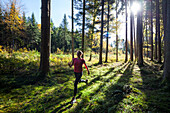
<path id="1" fill-rule="evenodd" d="M 86 82 L 85 80 L 81 79 L 82 77 L 82 72 L 81 73 L 76 73 L 74 72 L 75 74 L 75 77 L 76 77 L 76 80 L 74 82 L 74 96 L 76 96 L 76 93 L 77 93 L 77 84 L 80 83 L 80 82 Z"/>

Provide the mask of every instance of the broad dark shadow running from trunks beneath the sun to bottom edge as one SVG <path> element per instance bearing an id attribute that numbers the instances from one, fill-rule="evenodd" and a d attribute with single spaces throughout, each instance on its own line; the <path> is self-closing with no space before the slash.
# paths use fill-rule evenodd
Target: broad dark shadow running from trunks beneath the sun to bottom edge
<path id="1" fill-rule="evenodd" d="M 124 99 L 124 94 L 128 93 L 125 86 L 130 85 L 130 78 L 133 77 L 132 72 L 135 62 L 129 63 L 123 75 L 120 75 L 116 84 L 111 85 L 105 92 L 106 98 L 103 100 L 103 109 L 108 112 L 121 111 L 120 102 Z M 102 107 L 102 104 L 99 105 Z"/>

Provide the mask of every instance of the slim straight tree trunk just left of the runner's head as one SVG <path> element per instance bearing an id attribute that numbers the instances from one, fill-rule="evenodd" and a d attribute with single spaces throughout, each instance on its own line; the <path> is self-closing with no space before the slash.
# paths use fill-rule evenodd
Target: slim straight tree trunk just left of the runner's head
<path id="1" fill-rule="evenodd" d="M 74 4 L 73 4 L 73 0 L 72 0 L 72 5 L 71 5 L 71 9 L 72 9 L 72 59 L 74 58 Z"/>

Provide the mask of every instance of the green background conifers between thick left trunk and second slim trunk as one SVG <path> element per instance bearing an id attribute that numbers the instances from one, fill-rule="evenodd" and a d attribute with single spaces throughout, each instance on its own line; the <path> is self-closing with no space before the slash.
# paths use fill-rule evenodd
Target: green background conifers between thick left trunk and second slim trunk
<path id="1" fill-rule="evenodd" d="M 68 22 L 66 15 L 64 15 L 63 21 L 59 27 L 53 26 L 54 23 L 51 22 L 51 50 L 52 53 L 57 52 L 58 49 L 62 50 L 63 52 L 70 52 L 72 47 L 72 39 L 71 33 L 68 29 Z M 74 48 L 75 50 L 80 49 L 81 47 L 81 35 L 76 30 L 74 33 Z"/>

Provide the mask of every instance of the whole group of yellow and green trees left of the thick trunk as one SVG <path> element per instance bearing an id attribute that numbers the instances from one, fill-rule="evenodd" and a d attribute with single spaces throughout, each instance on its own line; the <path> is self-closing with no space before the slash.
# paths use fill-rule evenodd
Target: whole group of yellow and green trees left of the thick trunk
<path id="1" fill-rule="evenodd" d="M 3 9 L 0 7 L 0 44 L 9 50 L 21 47 L 40 50 L 40 29 L 34 13 L 26 18 L 21 11 L 16 0 L 9 1 Z"/>

